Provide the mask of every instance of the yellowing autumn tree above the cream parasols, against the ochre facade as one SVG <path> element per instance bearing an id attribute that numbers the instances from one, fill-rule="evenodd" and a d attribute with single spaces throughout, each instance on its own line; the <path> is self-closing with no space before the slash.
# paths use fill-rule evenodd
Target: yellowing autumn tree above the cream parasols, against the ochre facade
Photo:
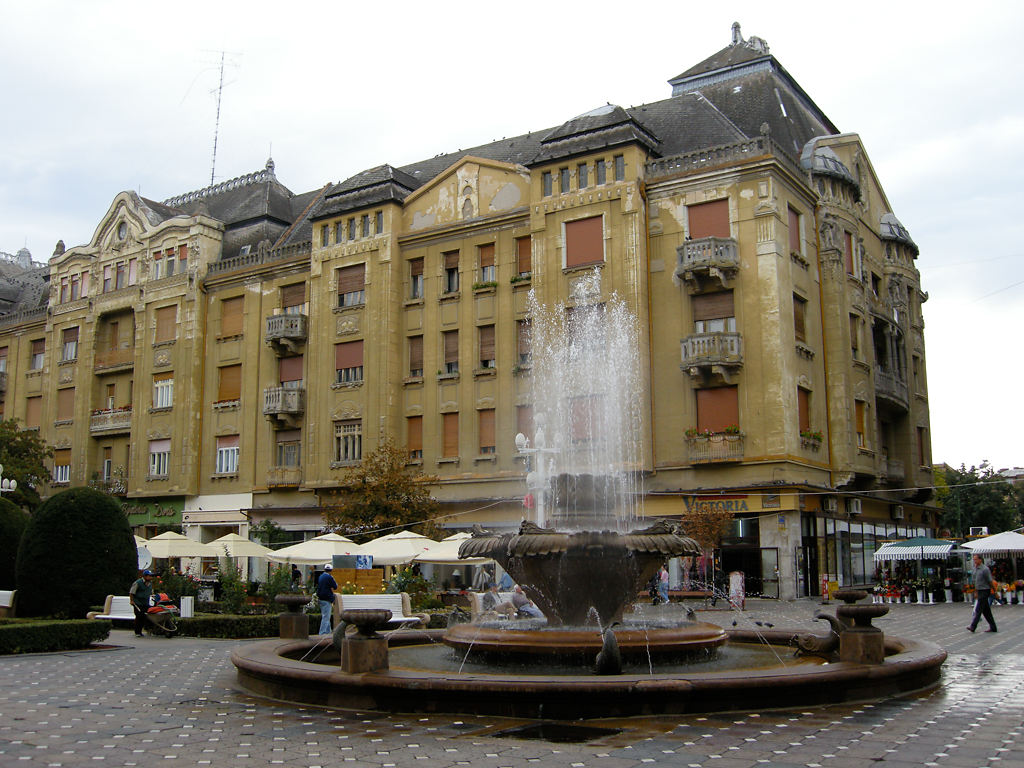
<path id="1" fill-rule="evenodd" d="M 367 541 L 388 528 L 416 528 L 434 535 L 438 505 L 430 496 L 430 478 L 407 465 L 409 454 L 390 440 L 351 467 L 329 496 L 324 519 L 353 541 Z"/>

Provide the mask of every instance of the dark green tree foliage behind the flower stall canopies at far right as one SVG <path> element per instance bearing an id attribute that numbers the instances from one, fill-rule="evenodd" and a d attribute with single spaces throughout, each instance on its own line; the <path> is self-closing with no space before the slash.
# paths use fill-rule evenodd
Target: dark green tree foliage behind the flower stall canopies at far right
<path id="1" fill-rule="evenodd" d="M 940 524 L 951 536 L 967 536 L 972 527 L 988 532 L 1012 530 L 1024 514 L 1024 487 L 1015 485 L 984 461 L 970 469 L 946 467 L 936 476 L 936 496 L 942 506 Z"/>

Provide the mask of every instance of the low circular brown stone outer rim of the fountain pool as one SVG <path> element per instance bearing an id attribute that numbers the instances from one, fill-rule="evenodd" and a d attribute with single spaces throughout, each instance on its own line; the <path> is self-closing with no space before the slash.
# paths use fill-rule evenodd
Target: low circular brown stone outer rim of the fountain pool
<path id="1" fill-rule="evenodd" d="M 392 647 L 440 642 L 443 631 L 398 633 Z M 793 653 L 792 631 L 728 631 L 730 642 Z M 323 641 L 321 641 L 323 645 Z M 729 672 L 529 676 L 494 670 L 453 674 L 382 670 L 346 674 L 301 657 L 315 640 L 267 640 L 231 653 L 246 690 L 296 703 L 383 712 L 445 712 L 524 718 L 606 718 L 784 709 L 885 698 L 934 687 L 946 653 L 931 643 L 886 638 L 880 665 L 840 662 Z"/>

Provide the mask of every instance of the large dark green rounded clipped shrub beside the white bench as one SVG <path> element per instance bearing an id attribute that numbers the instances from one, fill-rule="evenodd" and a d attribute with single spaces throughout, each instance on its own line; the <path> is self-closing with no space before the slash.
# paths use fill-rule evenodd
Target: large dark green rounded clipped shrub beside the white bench
<path id="1" fill-rule="evenodd" d="M 22 615 L 82 618 L 106 595 L 125 595 L 138 577 L 128 518 L 93 488 L 50 497 L 32 516 L 17 551 Z"/>

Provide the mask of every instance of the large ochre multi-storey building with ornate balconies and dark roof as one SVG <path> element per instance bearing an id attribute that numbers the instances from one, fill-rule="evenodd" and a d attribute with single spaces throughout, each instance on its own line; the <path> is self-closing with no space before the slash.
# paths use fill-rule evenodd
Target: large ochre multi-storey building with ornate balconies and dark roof
<path id="1" fill-rule="evenodd" d="M 882 541 L 935 523 L 919 249 L 763 40 L 737 26 L 670 83 L 304 194 L 268 163 L 119 195 L 58 247 L 45 302 L 0 316 L 5 418 L 140 530 L 314 535 L 387 438 L 444 525 L 512 527 L 527 295 L 566 302 L 598 269 L 641 321 L 645 514 L 731 511 L 722 566 L 752 592 L 870 581 Z"/>

